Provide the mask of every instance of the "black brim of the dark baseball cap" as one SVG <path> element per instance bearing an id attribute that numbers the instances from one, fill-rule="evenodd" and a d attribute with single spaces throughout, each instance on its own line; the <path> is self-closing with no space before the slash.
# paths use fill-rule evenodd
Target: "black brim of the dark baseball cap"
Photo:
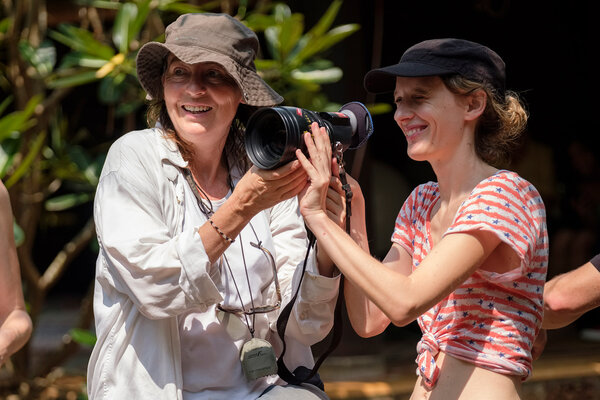
<path id="1" fill-rule="evenodd" d="M 388 67 L 377 68 L 365 75 L 364 86 L 370 93 L 393 92 L 396 86 L 396 77 L 420 77 L 455 74 L 446 68 L 417 62 L 401 62 Z"/>

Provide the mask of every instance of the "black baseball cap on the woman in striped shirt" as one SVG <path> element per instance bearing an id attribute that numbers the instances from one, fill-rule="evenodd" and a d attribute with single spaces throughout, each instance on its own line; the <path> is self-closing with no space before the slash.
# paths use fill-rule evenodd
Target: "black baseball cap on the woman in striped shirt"
<path id="1" fill-rule="evenodd" d="M 408 48 L 398 64 L 377 68 L 365 75 L 365 89 L 371 93 L 394 90 L 397 76 L 461 75 L 491 86 L 503 96 L 506 85 L 502 58 L 490 48 L 463 39 L 431 39 Z"/>

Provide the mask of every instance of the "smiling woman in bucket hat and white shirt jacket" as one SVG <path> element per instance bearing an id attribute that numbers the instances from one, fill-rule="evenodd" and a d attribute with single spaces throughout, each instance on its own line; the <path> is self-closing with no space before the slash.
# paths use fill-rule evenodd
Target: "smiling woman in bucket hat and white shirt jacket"
<path id="1" fill-rule="evenodd" d="M 326 399 L 276 375 L 280 307 L 305 279 L 285 363 L 313 364 L 339 278 L 305 261 L 297 160 L 250 167 L 243 124 L 282 101 L 256 73 L 256 35 L 225 14 L 186 14 L 137 57 L 149 129 L 111 147 L 96 193 L 100 254 L 90 399 Z M 283 394 L 281 394 L 283 392 Z"/>

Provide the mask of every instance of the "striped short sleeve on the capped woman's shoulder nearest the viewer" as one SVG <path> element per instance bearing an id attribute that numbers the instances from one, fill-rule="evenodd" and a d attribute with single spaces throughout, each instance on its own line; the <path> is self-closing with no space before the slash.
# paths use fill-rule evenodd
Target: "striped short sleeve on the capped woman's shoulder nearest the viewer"
<path id="1" fill-rule="evenodd" d="M 521 270 L 508 273 L 514 277 L 514 273 L 521 275 L 532 264 L 542 229 L 540 209 L 545 214 L 541 197 L 533 185 L 507 171 L 475 187 L 446 234 L 474 230 L 495 233 L 521 259 Z"/>

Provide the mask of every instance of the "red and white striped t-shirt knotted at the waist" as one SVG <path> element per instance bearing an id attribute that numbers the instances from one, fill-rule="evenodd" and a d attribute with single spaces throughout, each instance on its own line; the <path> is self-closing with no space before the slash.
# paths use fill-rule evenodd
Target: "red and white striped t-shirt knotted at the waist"
<path id="1" fill-rule="evenodd" d="M 419 185 L 396 219 L 392 241 L 412 254 L 413 270 L 431 250 L 429 218 L 439 199 L 436 182 Z M 417 374 L 433 386 L 438 351 L 502 374 L 531 373 L 531 348 L 542 322 L 548 265 L 546 211 L 536 188 L 501 170 L 480 182 L 444 235 L 484 229 L 519 255 L 520 267 L 503 274 L 478 270 L 418 318 Z M 456 254 L 460 257 L 460 254 Z"/>

